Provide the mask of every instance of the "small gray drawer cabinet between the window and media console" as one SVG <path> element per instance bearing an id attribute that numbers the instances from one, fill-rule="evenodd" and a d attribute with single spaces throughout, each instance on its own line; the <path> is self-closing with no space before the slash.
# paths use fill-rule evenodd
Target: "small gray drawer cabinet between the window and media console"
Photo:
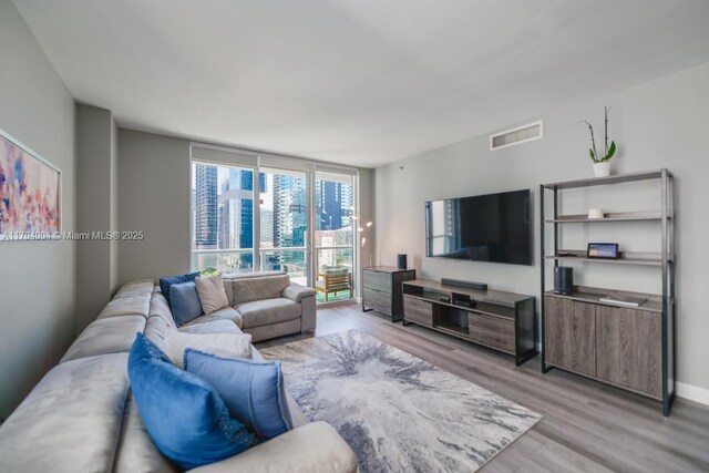
<path id="1" fill-rule="evenodd" d="M 391 266 L 372 266 L 362 269 L 362 311 L 377 310 L 401 320 L 403 312 L 403 281 L 415 279 L 414 269 L 399 269 Z"/>

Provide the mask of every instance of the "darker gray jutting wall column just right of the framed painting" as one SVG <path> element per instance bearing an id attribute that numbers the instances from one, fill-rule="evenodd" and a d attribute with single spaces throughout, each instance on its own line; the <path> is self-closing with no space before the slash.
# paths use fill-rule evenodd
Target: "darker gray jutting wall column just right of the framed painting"
<path id="1" fill-rule="evenodd" d="M 76 105 L 76 230 L 117 230 L 117 127 L 113 114 Z M 117 278 L 117 240 L 81 240 L 76 246 L 76 335 L 113 296 Z"/>

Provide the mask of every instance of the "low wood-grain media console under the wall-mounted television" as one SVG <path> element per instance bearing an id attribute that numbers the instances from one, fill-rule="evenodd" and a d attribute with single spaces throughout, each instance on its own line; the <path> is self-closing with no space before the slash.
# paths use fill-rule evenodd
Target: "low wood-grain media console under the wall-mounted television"
<path id="1" fill-rule="evenodd" d="M 403 282 L 403 323 L 417 323 L 514 356 L 536 356 L 535 298 L 417 279 Z"/>

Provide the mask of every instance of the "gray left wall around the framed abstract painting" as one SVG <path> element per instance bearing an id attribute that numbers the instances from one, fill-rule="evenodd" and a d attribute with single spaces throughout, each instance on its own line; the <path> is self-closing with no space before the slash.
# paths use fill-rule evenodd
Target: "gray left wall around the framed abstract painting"
<path id="1" fill-rule="evenodd" d="M 74 229 L 74 101 L 12 2 L 0 2 L 0 128 L 62 169 L 62 227 Z M 72 241 L 0 241 L 0 417 L 74 337 Z"/>

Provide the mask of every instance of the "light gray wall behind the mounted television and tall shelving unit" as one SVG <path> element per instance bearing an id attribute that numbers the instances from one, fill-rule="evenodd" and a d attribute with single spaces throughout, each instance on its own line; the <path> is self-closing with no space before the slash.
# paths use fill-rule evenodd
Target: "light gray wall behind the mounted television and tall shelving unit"
<path id="1" fill-rule="evenodd" d="M 433 150 L 376 172 L 376 225 L 378 260 L 394 264 L 408 253 L 419 277 L 454 277 L 486 281 L 492 288 L 530 295 L 540 292 L 538 186 L 542 183 L 590 177 L 588 132 L 579 120 L 596 126 L 603 136 L 603 107 L 613 105 L 610 134 L 618 144 L 615 173 L 667 167 L 677 185 L 677 341 L 678 380 L 709 389 L 709 284 L 706 247 L 709 235 L 709 63 L 621 90 L 564 110 L 530 117 L 544 119 L 545 137 L 496 152 L 489 151 L 489 135 L 475 136 Z M 527 122 L 525 120 L 524 122 Z M 514 125 L 511 123 L 511 125 Z M 403 167 L 403 168 L 400 168 Z M 588 207 L 605 210 L 659 208 L 659 193 L 649 184 L 631 184 L 626 191 L 597 187 L 578 192 L 563 203 L 565 213 Z M 423 203 L 454 196 L 531 188 L 534 195 L 535 265 L 450 261 L 424 255 Z M 655 226 L 654 226 L 655 225 Z M 659 251 L 658 224 L 578 227 L 564 240 L 583 248 L 594 239 L 620 241 L 626 250 Z M 577 284 L 629 288 L 657 294 L 659 271 L 653 268 L 577 266 Z M 681 394 L 681 387 L 679 393 Z M 706 394 L 706 392 L 705 392 Z M 703 394 L 702 394 L 703 395 Z"/>

